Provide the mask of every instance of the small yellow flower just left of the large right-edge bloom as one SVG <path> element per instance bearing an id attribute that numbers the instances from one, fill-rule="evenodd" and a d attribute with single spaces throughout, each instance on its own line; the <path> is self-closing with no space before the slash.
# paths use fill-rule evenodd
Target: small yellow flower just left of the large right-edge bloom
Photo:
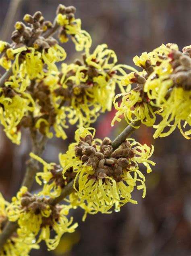
<path id="1" fill-rule="evenodd" d="M 148 63 L 148 62 L 147 62 Z M 147 78 L 147 72 L 131 72 L 122 79 L 122 85 L 127 86 L 125 93 L 120 93 L 114 98 L 114 107 L 117 110 L 111 125 L 115 121 L 121 121 L 120 116 L 124 115 L 127 123 L 131 126 L 131 122 L 140 120 L 141 123 L 152 126 L 156 121 L 156 111 L 151 105 L 147 93 L 143 91 Z M 137 83 L 137 87 L 131 89 L 131 84 Z M 120 104 L 117 102 L 118 98 L 122 97 Z M 134 128 L 138 128 L 133 126 Z"/>

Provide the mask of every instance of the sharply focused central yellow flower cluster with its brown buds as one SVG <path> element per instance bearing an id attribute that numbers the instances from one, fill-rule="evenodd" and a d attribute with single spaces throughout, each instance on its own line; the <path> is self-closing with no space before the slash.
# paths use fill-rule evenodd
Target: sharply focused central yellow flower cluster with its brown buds
<path id="1" fill-rule="evenodd" d="M 145 177 L 138 164 L 143 163 L 147 172 L 151 171 L 149 165 L 154 162 L 148 158 L 153 148 L 129 139 L 113 152 L 110 140 L 105 139 L 102 143 L 93 140 L 89 129 L 81 128 L 75 134 L 77 142 L 69 146 L 66 154 L 60 155 L 63 177 L 66 178 L 65 173 L 71 167 L 77 173 L 75 182 L 78 179 L 79 187 L 74 184 L 74 188 L 80 201 L 73 195 L 71 205 L 85 209 L 86 216 L 87 213 L 110 213 L 113 206 L 119 211 L 127 202 L 137 203 L 131 199 L 135 186 L 143 189 L 145 197 Z"/>

